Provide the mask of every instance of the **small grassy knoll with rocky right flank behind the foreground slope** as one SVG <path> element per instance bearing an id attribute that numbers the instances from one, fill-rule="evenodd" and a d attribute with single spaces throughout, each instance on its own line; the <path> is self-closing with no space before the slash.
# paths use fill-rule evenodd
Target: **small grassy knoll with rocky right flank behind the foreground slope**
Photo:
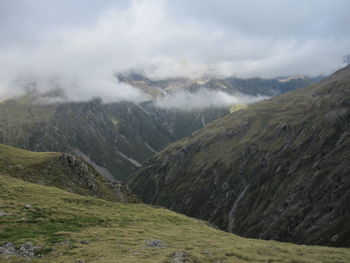
<path id="1" fill-rule="evenodd" d="M 0 174 L 109 201 L 138 202 L 128 187 L 108 181 L 91 164 L 71 154 L 30 152 L 0 144 Z"/>

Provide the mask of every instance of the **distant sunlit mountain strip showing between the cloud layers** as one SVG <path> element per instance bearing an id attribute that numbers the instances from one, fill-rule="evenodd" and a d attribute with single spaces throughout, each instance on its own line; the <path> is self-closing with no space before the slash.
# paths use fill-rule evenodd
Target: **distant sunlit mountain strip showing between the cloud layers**
<path id="1" fill-rule="evenodd" d="M 272 79 L 209 78 L 202 75 L 189 78 L 151 80 L 138 73 L 118 74 L 118 79 L 137 87 L 153 97 L 163 96 L 178 90 L 191 92 L 199 89 L 223 91 L 228 94 L 242 93 L 251 96 L 276 96 L 287 91 L 306 87 L 323 79 L 319 77 L 289 76 Z"/>

